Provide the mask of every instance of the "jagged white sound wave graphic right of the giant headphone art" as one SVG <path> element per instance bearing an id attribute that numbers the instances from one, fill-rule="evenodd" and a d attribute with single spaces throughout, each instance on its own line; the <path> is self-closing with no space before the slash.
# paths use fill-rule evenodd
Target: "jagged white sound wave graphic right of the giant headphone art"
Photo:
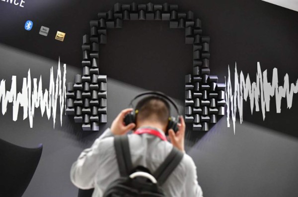
<path id="1" fill-rule="evenodd" d="M 261 71 L 260 62 L 258 62 L 256 82 L 251 83 L 249 75 L 247 74 L 246 80 L 242 71 L 240 72 L 240 81 L 237 73 L 237 66 L 235 65 L 235 75 L 234 75 L 234 92 L 232 93 L 231 80 L 230 80 L 230 69 L 228 66 L 228 80 L 225 91 L 225 100 L 227 105 L 227 127 L 229 124 L 229 117 L 231 111 L 231 117 L 233 121 L 233 128 L 235 134 L 235 120 L 236 112 L 238 109 L 240 123 L 243 122 L 243 99 L 246 101 L 248 96 L 250 100 L 250 110 L 253 113 L 253 108 L 255 105 L 255 110 L 260 111 L 259 99 L 261 97 L 261 109 L 263 114 L 263 120 L 265 119 L 265 110 L 270 111 L 270 98 L 275 96 L 276 101 L 276 112 L 281 113 L 281 100 L 287 97 L 287 105 L 290 109 L 293 102 L 293 94 L 298 92 L 298 80 L 296 85 L 293 83 L 290 86 L 289 75 L 286 74 L 284 78 L 284 86 L 278 86 L 278 74 L 277 68 L 273 69 L 272 83 L 267 81 L 267 70 Z"/>

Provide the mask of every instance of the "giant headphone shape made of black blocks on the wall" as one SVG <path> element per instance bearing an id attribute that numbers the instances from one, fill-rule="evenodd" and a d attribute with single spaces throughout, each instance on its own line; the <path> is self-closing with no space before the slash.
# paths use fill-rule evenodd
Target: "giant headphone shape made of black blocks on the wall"
<path id="1" fill-rule="evenodd" d="M 203 36 L 200 19 L 194 13 L 179 12 L 176 4 L 116 3 L 90 21 L 90 35 L 83 36 L 82 74 L 67 84 L 68 115 L 84 131 L 98 131 L 107 122 L 107 76 L 99 72 L 99 45 L 107 44 L 107 29 L 122 28 L 123 20 L 165 20 L 169 28 L 185 29 L 185 44 L 193 45 L 193 73 L 185 76 L 185 122 L 193 131 L 208 131 L 224 115 L 225 84 L 210 75 L 210 38 Z"/>

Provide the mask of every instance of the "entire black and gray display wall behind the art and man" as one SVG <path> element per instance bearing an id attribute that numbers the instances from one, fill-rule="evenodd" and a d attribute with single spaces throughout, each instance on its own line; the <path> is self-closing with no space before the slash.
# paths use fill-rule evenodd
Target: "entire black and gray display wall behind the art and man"
<path id="1" fill-rule="evenodd" d="M 81 73 L 81 40 L 89 34 L 89 21 L 116 2 L 131 3 L 27 0 L 20 8 L 0 1 L 0 43 L 5 44 L 0 45 L 0 80 L 5 79 L 10 89 L 11 76 L 16 75 L 20 91 L 22 78 L 30 68 L 32 77 L 42 74 L 43 88 L 48 88 L 50 67 L 56 75 L 60 56 L 68 64 L 67 82 L 73 82 L 74 75 Z M 253 80 L 257 61 L 268 70 L 269 80 L 274 67 L 278 68 L 280 83 L 286 73 L 291 83 L 297 80 L 298 12 L 261 0 L 167 2 L 178 4 L 180 11 L 194 11 L 202 20 L 203 34 L 211 37 L 211 73 L 218 75 L 220 82 L 227 76 L 227 65 L 233 68 L 235 61 L 238 70 L 249 73 Z M 30 32 L 24 30 L 28 19 L 34 21 Z M 38 34 L 41 25 L 50 28 L 48 37 Z M 57 30 L 67 34 L 63 43 L 54 40 Z M 184 30 L 169 29 L 165 21 L 125 21 L 123 29 L 108 31 L 108 44 L 100 51 L 100 73 L 108 75 L 109 81 L 108 123 L 100 132 L 82 132 L 67 116 L 61 127 L 58 114 L 53 129 L 53 120 L 41 117 L 40 109 L 36 109 L 30 129 L 29 120 L 22 120 L 22 110 L 18 120 L 12 121 L 12 106 L 8 104 L 8 112 L 0 115 L 0 138 L 26 147 L 44 145 L 24 197 L 76 196 L 69 170 L 81 150 L 89 147 L 133 95 L 144 89 L 163 91 L 182 103 L 184 75 L 191 70 L 192 49 L 184 44 Z M 251 115 L 249 103 L 244 103 L 244 123 L 239 125 L 237 120 L 235 135 L 226 127 L 225 117 L 201 140 L 201 133 L 187 132 L 187 152 L 198 167 L 198 180 L 206 197 L 298 196 L 297 95 L 291 109 L 283 99 L 281 114 L 275 113 L 274 99 L 270 108 L 263 121 L 261 112 Z"/>

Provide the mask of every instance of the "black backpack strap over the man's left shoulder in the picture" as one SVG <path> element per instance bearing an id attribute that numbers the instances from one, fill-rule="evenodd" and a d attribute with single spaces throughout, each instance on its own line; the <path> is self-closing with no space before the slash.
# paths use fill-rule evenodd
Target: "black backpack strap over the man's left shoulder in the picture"
<path id="1" fill-rule="evenodd" d="M 127 135 L 115 136 L 114 147 L 120 176 L 129 176 L 133 169 Z"/>

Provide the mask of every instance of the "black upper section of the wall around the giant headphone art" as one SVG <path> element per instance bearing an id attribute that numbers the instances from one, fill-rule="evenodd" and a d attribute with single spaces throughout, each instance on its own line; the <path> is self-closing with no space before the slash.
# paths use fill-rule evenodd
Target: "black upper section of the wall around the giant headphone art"
<path id="1" fill-rule="evenodd" d="M 154 4 L 164 0 L 150 0 Z M 90 33 L 90 20 L 106 12 L 116 2 L 127 0 L 27 0 L 24 8 L 0 1 L 0 43 L 23 49 L 52 60 L 58 56 L 74 67 L 81 67 L 82 36 Z M 138 0 L 138 3 L 148 3 Z M 257 62 L 262 70 L 278 68 L 279 82 L 286 73 L 297 80 L 298 12 L 262 0 L 167 0 L 178 4 L 180 12 L 191 10 L 202 21 L 203 35 L 210 36 L 210 68 L 224 82 L 227 66 L 255 79 Z M 32 20 L 31 31 L 24 30 Z M 50 28 L 48 37 L 39 35 L 40 26 Z M 56 41 L 57 31 L 66 33 L 65 41 Z M 108 29 L 107 45 L 100 49 L 100 73 L 139 88 L 163 91 L 184 99 L 184 75 L 192 70 L 192 46 L 184 44 L 184 29 L 170 29 L 167 21 L 124 21 L 122 29 Z M 142 66 L 141 66 L 142 65 Z M 159 72 L 156 72 L 156 71 Z M 165 74 L 164 74 L 165 73 Z M 152 78 L 154 80 L 152 80 Z M 157 80 L 158 79 L 158 80 Z M 150 81 L 150 82 L 148 82 Z M 172 87 L 176 87 L 172 91 Z M 288 110 L 282 101 L 282 114 L 276 114 L 275 100 L 263 121 L 261 112 L 251 115 L 244 103 L 244 120 L 298 137 L 295 104 Z"/>

